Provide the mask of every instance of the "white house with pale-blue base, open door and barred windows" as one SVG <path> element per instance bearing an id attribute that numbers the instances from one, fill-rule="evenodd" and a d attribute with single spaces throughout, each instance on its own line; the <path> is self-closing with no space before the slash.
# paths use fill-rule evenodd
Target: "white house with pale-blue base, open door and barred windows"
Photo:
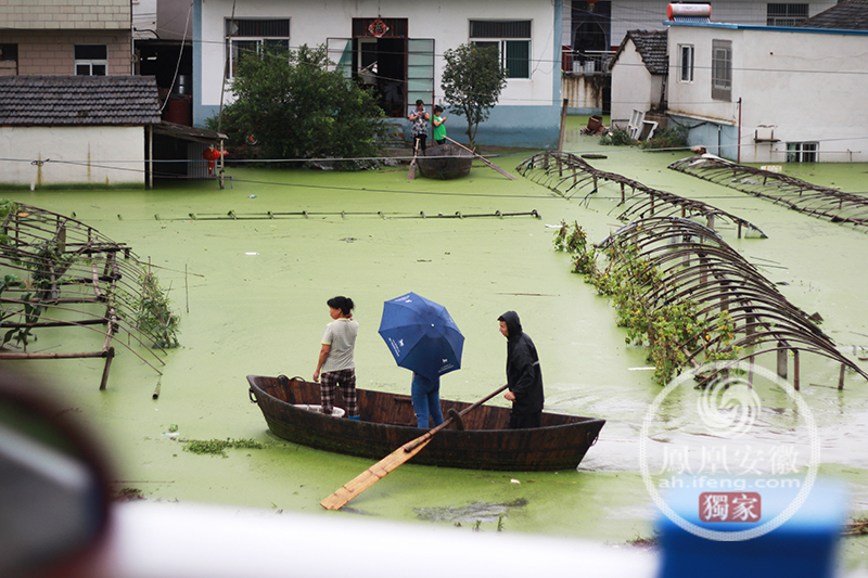
<path id="1" fill-rule="evenodd" d="M 327 44 L 331 60 L 382 91 L 384 108 L 396 123 L 404 123 L 417 99 L 427 105 L 443 102 L 445 50 L 478 42 L 498 47 L 509 79 L 490 117 L 480 125 L 476 141 L 557 145 L 562 0 L 194 0 L 193 8 L 194 126 L 218 114 L 221 99 L 232 102 L 239 53 L 265 42 Z M 467 142 L 462 124 L 456 117 L 450 137 Z"/>

